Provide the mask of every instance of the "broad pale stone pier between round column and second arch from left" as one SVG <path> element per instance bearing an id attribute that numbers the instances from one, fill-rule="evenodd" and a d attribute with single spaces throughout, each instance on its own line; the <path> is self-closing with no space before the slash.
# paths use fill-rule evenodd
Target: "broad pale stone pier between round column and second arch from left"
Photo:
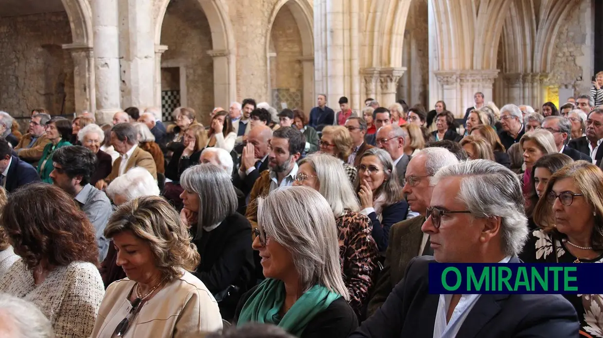
<path id="1" fill-rule="evenodd" d="M 122 34 L 125 46 L 121 59 L 124 86 L 122 103 L 140 109 L 156 102 L 155 43 L 153 31 L 153 4 L 148 0 L 121 0 Z"/>

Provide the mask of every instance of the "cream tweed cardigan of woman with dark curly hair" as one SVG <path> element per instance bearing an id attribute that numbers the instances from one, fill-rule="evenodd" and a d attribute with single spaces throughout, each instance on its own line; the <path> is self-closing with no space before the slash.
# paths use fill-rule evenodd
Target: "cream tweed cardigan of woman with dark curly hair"
<path id="1" fill-rule="evenodd" d="M 22 259 L 0 277 L 0 292 L 36 305 L 48 318 L 57 338 L 87 338 L 94 328 L 105 293 L 96 266 L 73 262 L 55 268 L 39 285 Z"/>

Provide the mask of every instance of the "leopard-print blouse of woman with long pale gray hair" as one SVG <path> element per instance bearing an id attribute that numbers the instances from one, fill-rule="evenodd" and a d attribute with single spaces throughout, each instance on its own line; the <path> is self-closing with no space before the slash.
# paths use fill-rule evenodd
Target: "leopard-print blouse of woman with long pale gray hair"
<path id="1" fill-rule="evenodd" d="M 339 260 L 343 279 L 350 292 L 350 307 L 358 315 L 367 301 L 377 266 L 377 244 L 371 236 L 370 218 L 347 211 L 335 218 L 339 234 Z"/>

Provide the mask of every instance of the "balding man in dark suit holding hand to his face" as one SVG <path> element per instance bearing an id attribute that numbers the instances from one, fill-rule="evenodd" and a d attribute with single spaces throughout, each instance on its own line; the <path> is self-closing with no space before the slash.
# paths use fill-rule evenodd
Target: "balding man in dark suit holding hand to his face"
<path id="1" fill-rule="evenodd" d="M 260 173 L 268 169 L 268 142 L 272 138 L 272 129 L 265 125 L 255 126 L 248 134 L 247 145 L 241 155 L 241 167 L 233 175 L 233 184 L 245 196 L 251 192 Z"/>

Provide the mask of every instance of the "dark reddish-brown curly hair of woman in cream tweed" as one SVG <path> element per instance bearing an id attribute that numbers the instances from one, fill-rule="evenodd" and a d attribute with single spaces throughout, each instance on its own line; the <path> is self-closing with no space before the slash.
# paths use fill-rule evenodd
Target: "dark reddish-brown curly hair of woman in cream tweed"
<path id="1" fill-rule="evenodd" d="M 32 183 L 17 189 L 8 197 L 0 224 L 28 269 L 42 260 L 51 266 L 77 261 L 98 266 L 92 223 L 57 186 Z"/>

